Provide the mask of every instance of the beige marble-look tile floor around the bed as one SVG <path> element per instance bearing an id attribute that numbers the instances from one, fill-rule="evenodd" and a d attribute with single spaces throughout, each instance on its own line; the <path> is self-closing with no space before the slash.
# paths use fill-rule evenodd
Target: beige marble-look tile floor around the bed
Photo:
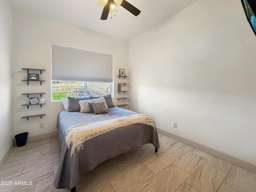
<path id="1" fill-rule="evenodd" d="M 159 140 L 157 153 L 146 144 L 83 173 L 77 192 L 256 192 L 256 174 L 162 134 Z M 70 191 L 53 186 L 59 161 L 57 137 L 14 147 L 0 169 L 0 192 Z"/>

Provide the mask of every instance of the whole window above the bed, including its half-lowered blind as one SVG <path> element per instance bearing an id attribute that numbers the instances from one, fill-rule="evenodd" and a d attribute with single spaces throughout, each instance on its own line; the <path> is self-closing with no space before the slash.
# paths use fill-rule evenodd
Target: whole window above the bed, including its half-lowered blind
<path id="1" fill-rule="evenodd" d="M 111 94 L 112 57 L 52 45 L 52 100 Z"/>

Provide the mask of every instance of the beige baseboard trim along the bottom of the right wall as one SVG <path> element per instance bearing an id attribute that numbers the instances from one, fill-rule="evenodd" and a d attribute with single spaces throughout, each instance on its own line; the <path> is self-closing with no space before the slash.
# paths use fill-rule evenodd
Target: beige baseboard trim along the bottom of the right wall
<path id="1" fill-rule="evenodd" d="M 180 137 L 178 135 L 175 135 L 175 134 L 172 134 L 172 133 L 169 133 L 169 132 L 166 132 L 164 130 L 161 130 L 159 128 L 156 128 L 157 132 L 160 133 L 160 134 L 163 134 L 165 136 L 168 136 L 170 138 L 173 138 L 175 140 L 178 140 L 184 144 L 187 144 L 189 146 L 192 146 L 194 148 L 197 148 L 203 152 L 206 152 L 208 154 L 211 154 L 215 157 L 218 157 L 222 160 L 225 160 L 225 161 L 228 161 L 238 167 L 241 167 L 241 168 L 244 168 L 245 170 L 248 170 L 250 172 L 253 172 L 256 174 L 256 165 L 253 165 L 253 164 L 250 164 L 248 162 L 245 162 L 243 160 L 240 160 L 238 158 L 235 158 L 233 156 L 230 156 L 230 155 L 227 155 L 227 154 L 224 154 L 223 152 L 220 152 L 220 151 L 217 151 L 217 150 L 214 150 L 212 148 L 209 148 L 209 147 L 206 147 L 206 146 L 203 146 L 201 144 L 198 144 L 194 141 L 191 141 L 191 140 L 188 140 L 186 138 L 183 138 L 183 137 Z M 160 146 L 161 147 L 161 146 Z"/>

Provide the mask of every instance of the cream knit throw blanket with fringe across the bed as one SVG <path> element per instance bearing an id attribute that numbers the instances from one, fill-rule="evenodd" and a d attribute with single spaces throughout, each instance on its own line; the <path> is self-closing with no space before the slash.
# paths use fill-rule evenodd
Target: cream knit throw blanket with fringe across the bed
<path id="1" fill-rule="evenodd" d="M 66 144 L 68 145 L 68 148 L 70 148 L 71 143 L 73 144 L 71 148 L 72 156 L 75 153 L 75 149 L 77 151 L 81 149 L 83 150 L 83 142 L 116 128 L 136 123 L 147 124 L 155 128 L 155 121 L 152 116 L 148 114 L 135 114 L 72 126 L 66 132 Z"/>

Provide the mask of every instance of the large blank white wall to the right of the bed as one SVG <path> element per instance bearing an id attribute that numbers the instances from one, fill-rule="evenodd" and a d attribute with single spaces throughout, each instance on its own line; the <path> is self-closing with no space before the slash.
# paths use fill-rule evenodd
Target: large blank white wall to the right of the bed
<path id="1" fill-rule="evenodd" d="M 130 109 L 256 165 L 255 61 L 240 0 L 198 0 L 129 42 Z"/>

